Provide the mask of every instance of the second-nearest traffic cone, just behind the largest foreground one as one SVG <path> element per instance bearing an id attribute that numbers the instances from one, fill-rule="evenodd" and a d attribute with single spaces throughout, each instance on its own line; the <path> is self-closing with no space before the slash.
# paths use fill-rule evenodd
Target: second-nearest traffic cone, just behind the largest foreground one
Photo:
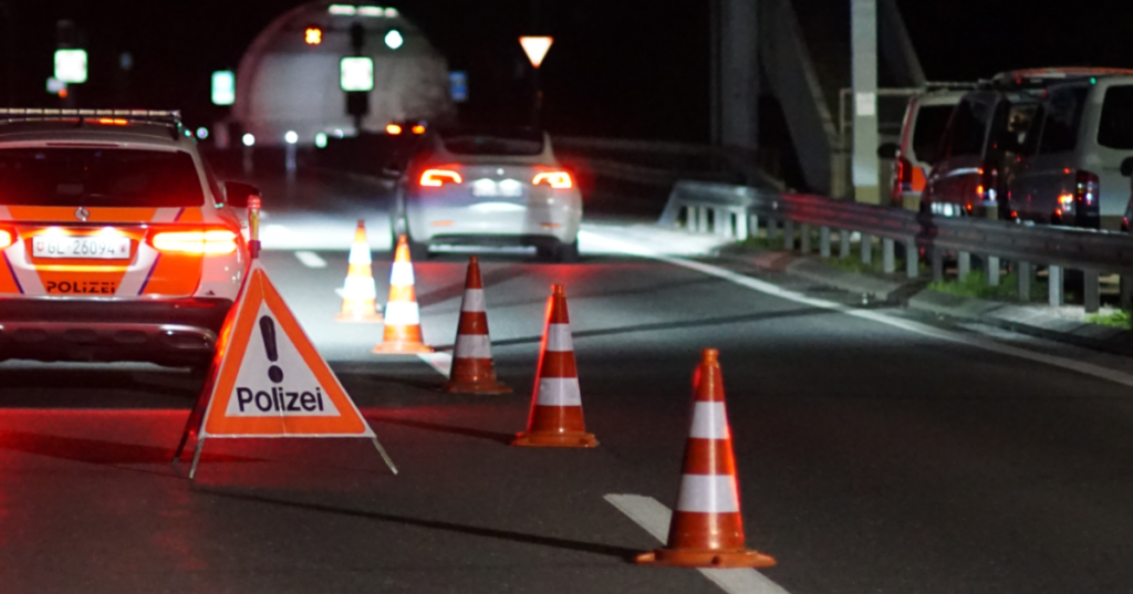
<path id="1" fill-rule="evenodd" d="M 566 315 L 566 290 L 562 285 L 554 285 L 551 290 L 527 433 L 517 435 L 511 444 L 594 448 L 598 440 L 586 432 L 582 421 L 582 394 L 578 388 L 570 317 Z"/>

